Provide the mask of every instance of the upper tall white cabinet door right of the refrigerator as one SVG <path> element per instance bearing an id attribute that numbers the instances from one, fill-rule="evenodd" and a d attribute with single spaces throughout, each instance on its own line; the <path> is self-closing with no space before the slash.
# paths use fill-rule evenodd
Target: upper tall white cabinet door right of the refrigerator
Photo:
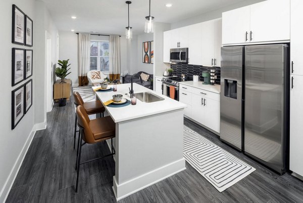
<path id="1" fill-rule="evenodd" d="M 290 2 L 290 68 L 291 74 L 303 75 L 303 4 L 302 0 Z"/>

